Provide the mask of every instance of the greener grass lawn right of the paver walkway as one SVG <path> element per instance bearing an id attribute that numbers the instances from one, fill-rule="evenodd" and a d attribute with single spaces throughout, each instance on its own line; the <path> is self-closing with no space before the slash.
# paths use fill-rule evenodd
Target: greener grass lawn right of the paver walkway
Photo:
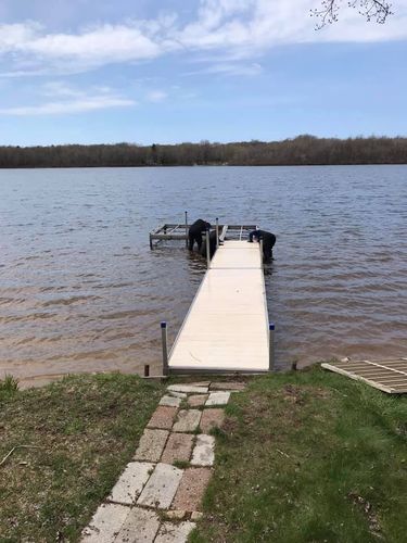
<path id="1" fill-rule="evenodd" d="M 313 368 L 232 394 L 190 541 L 404 542 L 407 397 Z"/>

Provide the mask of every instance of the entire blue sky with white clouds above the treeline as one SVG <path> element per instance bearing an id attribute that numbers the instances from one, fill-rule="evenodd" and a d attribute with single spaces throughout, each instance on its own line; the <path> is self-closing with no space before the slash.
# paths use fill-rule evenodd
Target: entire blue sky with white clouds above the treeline
<path id="1" fill-rule="evenodd" d="M 0 0 L 0 144 L 407 136 L 407 0 L 320 3 Z"/>

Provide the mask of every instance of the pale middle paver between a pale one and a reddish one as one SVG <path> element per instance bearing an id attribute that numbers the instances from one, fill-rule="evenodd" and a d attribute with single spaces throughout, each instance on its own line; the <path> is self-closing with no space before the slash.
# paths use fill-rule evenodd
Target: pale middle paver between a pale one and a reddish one
<path id="1" fill-rule="evenodd" d="M 168 464 L 157 464 L 137 504 L 168 509 L 183 471 Z"/>

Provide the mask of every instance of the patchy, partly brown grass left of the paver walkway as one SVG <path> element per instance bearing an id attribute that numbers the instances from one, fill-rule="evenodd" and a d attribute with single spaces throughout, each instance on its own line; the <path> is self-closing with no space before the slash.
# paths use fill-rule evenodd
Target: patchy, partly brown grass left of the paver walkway
<path id="1" fill-rule="evenodd" d="M 67 377 L 41 389 L 0 384 L 0 541 L 78 541 L 163 392 L 137 376 Z M 24 445 L 24 447 L 22 447 Z"/>

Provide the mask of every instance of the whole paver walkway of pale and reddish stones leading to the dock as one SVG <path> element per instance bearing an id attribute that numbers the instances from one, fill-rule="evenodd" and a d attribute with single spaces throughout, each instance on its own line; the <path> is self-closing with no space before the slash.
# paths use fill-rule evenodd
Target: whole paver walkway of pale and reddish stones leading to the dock
<path id="1" fill-rule="evenodd" d="M 84 543 L 185 543 L 202 516 L 222 425 L 241 382 L 170 384 L 133 459 L 82 531 Z"/>

